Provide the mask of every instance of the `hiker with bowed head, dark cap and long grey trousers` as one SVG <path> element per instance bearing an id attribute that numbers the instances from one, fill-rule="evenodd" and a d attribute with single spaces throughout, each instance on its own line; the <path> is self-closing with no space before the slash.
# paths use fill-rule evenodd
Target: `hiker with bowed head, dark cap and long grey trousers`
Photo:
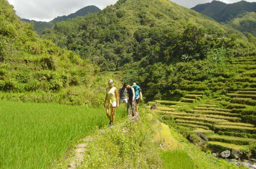
<path id="1" fill-rule="evenodd" d="M 132 108 L 132 116 L 135 115 L 135 93 L 134 93 L 134 87 L 128 85 L 128 83 L 124 83 L 124 88 L 127 89 L 128 93 L 128 103 L 127 103 L 127 113 L 128 116 L 131 115 L 131 109 Z"/>

